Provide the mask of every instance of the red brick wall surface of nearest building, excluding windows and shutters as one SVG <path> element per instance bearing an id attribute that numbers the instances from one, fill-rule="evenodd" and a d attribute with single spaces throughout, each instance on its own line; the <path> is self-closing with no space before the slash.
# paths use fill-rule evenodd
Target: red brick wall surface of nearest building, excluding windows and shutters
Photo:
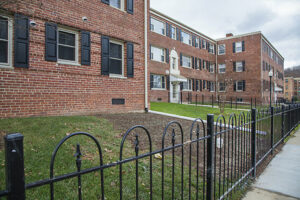
<path id="1" fill-rule="evenodd" d="M 99 0 L 23 1 L 6 9 L 7 16 L 22 13 L 37 25 L 30 28 L 29 68 L 0 68 L 0 117 L 144 110 L 143 1 L 134 1 L 133 15 Z M 46 21 L 91 32 L 91 66 L 45 61 Z M 134 78 L 101 75 L 101 35 L 134 43 Z M 78 55 L 80 63 L 80 48 Z M 124 58 L 126 76 L 126 53 Z M 124 98 L 125 105 L 112 105 L 112 98 Z"/>

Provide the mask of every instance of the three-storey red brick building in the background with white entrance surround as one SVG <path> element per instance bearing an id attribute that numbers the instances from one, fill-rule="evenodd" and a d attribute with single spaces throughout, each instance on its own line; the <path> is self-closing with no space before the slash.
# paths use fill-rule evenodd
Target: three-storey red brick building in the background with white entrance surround
<path id="1" fill-rule="evenodd" d="M 261 32 L 214 40 L 153 9 L 148 32 L 151 101 L 179 102 L 182 90 L 183 102 L 198 94 L 266 104 L 270 70 L 272 101 L 283 98 L 284 59 Z"/>

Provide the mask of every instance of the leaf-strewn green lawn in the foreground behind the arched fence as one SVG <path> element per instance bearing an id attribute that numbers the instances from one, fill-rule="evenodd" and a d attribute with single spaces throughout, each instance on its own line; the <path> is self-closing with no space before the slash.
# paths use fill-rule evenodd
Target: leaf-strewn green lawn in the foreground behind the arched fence
<path id="1" fill-rule="evenodd" d="M 58 142 L 72 132 L 89 132 L 95 136 L 103 151 L 104 163 L 119 159 L 122 134 L 113 129 L 106 119 L 94 116 L 77 117 L 37 117 L 0 119 L 0 132 L 19 132 L 24 135 L 25 182 L 31 183 L 49 178 L 50 159 Z M 133 135 L 134 137 L 134 135 Z M 123 159 L 134 156 L 134 140 L 125 142 Z M 59 150 L 55 159 L 54 174 L 62 175 L 76 171 L 76 144 L 81 145 L 82 169 L 99 165 L 96 145 L 83 136 L 73 137 Z M 143 142 L 142 142 L 143 143 Z M 145 146 L 145 147 L 144 147 Z M 141 145 L 140 153 L 147 152 L 147 145 Z M 4 150 L 0 149 L 0 177 L 5 177 Z M 187 157 L 187 155 L 186 155 Z M 171 163 L 169 153 L 165 157 L 165 199 L 171 199 Z M 180 197 L 181 167 L 180 157 L 175 157 L 175 196 Z M 123 165 L 123 199 L 135 198 L 135 162 Z M 196 194 L 196 170 L 192 170 L 192 199 Z M 202 180 L 202 179 L 201 179 Z M 104 189 L 107 200 L 119 199 L 119 167 L 104 170 Z M 200 181 L 199 194 L 202 194 L 203 182 Z M 54 184 L 55 199 L 76 199 L 77 178 L 67 179 Z M 0 190 L 5 189 L 5 178 L 0 178 Z M 49 199 L 50 187 L 26 190 L 27 199 Z M 100 199 L 100 173 L 82 176 L 83 199 Z M 139 160 L 140 199 L 149 199 L 149 158 Z M 239 199 L 242 191 L 238 191 L 233 199 Z M 153 199 L 161 198 L 161 160 L 153 158 Z M 184 168 L 184 199 L 188 199 L 188 166 Z"/>

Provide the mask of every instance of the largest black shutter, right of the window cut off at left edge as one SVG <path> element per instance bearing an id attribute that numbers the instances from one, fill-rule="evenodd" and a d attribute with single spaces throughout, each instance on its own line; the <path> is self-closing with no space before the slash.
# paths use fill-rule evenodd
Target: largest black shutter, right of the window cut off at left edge
<path id="1" fill-rule="evenodd" d="M 15 67 L 29 67 L 29 20 L 23 15 L 15 15 Z"/>

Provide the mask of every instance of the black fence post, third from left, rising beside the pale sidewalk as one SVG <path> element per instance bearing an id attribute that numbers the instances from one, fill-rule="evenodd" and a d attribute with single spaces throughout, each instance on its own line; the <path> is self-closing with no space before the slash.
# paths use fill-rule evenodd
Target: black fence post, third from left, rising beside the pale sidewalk
<path id="1" fill-rule="evenodd" d="M 251 166 L 252 177 L 256 177 L 256 109 L 251 110 Z"/>

